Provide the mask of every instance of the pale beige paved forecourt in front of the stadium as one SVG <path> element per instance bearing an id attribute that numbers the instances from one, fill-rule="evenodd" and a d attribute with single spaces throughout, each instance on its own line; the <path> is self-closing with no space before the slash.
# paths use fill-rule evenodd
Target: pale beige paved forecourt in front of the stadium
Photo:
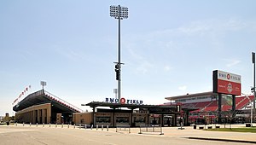
<path id="1" fill-rule="evenodd" d="M 73 125 L 0 125 L 0 144 L 256 144 L 255 133 L 199 130 L 199 127 L 209 126 L 224 127 L 197 125 L 196 130 L 194 126 L 183 127 L 183 130 L 180 127 L 163 127 L 161 134 L 160 130 L 152 132 L 131 128 L 129 133 L 127 129 L 117 131 L 106 126 L 91 130 Z"/>

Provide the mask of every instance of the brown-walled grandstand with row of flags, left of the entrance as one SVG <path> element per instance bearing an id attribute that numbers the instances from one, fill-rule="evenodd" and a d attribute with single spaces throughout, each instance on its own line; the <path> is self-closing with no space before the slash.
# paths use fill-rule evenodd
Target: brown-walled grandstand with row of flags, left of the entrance
<path id="1" fill-rule="evenodd" d="M 32 124 L 67 124 L 72 122 L 73 113 L 84 112 L 46 90 L 38 90 L 26 96 L 13 110 L 17 122 Z"/>

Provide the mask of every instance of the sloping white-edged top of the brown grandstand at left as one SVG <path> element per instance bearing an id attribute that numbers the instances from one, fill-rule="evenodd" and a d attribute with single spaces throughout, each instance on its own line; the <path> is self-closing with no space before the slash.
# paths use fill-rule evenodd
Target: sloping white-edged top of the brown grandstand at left
<path id="1" fill-rule="evenodd" d="M 83 112 L 78 107 L 74 107 L 68 102 L 61 100 L 59 97 L 51 95 L 49 92 L 45 90 L 38 90 L 28 96 L 26 96 L 21 102 L 18 102 L 13 110 L 18 112 L 23 110 L 27 107 L 32 107 L 34 105 L 44 104 L 44 103 L 51 103 L 53 107 L 61 110 L 61 112 L 71 112 L 71 113 L 79 113 Z"/>

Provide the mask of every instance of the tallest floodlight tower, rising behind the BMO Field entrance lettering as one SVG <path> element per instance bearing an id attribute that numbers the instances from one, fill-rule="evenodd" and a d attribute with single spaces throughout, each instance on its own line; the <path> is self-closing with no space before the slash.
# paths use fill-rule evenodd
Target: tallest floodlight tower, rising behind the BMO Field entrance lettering
<path id="1" fill-rule="evenodd" d="M 123 19 L 128 18 L 128 8 L 118 6 L 110 6 L 110 16 L 114 19 L 119 20 L 119 37 L 118 37 L 118 62 L 115 62 L 115 73 L 116 73 L 116 80 L 118 81 L 118 99 L 120 102 L 121 98 L 121 44 L 120 44 L 120 22 Z"/>

